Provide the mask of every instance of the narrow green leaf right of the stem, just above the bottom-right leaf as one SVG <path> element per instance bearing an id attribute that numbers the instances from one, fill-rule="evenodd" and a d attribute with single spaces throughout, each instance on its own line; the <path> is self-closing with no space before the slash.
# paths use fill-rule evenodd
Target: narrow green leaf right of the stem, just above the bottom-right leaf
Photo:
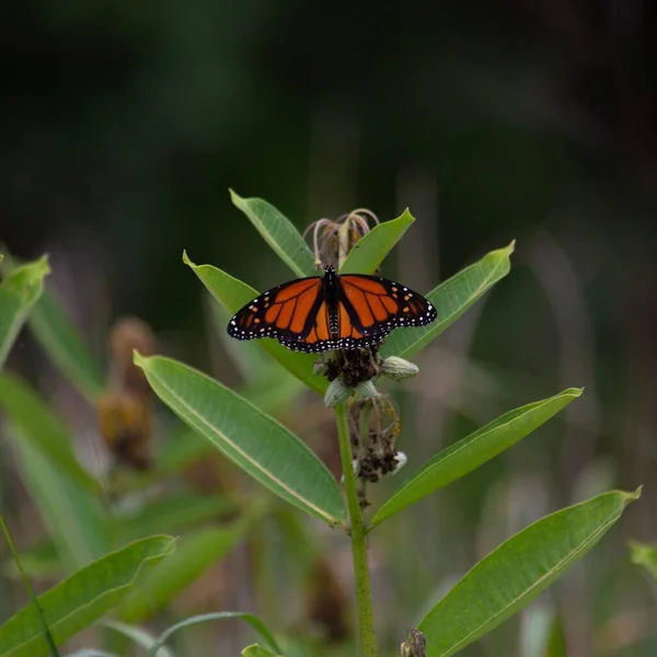
<path id="1" fill-rule="evenodd" d="M 374 514 L 370 530 L 512 447 L 579 395 L 581 389 L 568 388 L 546 400 L 509 411 L 466 438 L 450 445 L 393 493 Z"/>

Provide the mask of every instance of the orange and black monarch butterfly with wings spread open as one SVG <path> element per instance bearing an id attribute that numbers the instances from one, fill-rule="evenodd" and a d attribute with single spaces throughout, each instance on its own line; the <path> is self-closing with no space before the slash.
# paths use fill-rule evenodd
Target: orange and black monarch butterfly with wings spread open
<path id="1" fill-rule="evenodd" d="M 420 295 L 381 278 L 338 275 L 297 278 L 263 292 L 228 324 L 237 339 L 275 337 L 295 351 L 356 349 L 378 345 L 397 326 L 423 326 L 436 309 Z"/>

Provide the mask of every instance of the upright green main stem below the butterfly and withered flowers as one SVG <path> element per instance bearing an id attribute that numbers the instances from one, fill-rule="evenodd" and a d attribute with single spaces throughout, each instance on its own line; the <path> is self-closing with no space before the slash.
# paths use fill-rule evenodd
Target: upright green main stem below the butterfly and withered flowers
<path id="1" fill-rule="evenodd" d="M 351 556 L 354 558 L 354 577 L 356 580 L 356 607 L 358 610 L 358 624 L 360 626 L 360 645 L 364 657 L 377 657 L 377 639 L 374 636 L 374 621 L 372 614 L 372 593 L 370 590 L 369 566 L 367 562 L 367 538 L 362 525 L 362 514 L 358 502 L 356 475 L 351 464 L 351 443 L 349 441 L 349 426 L 347 412 L 344 404 L 335 407 L 337 422 L 337 439 L 339 442 L 339 457 L 347 494 L 347 508 L 349 510 Z"/>

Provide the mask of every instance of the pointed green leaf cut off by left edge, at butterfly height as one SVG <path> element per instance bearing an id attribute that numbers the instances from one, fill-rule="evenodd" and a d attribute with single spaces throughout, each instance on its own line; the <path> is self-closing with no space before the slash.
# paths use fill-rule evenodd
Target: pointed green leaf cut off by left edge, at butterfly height
<path id="1" fill-rule="evenodd" d="M 30 309 L 44 291 L 50 273 L 47 256 L 11 270 L 0 284 L 0 368 L 27 319 Z"/>

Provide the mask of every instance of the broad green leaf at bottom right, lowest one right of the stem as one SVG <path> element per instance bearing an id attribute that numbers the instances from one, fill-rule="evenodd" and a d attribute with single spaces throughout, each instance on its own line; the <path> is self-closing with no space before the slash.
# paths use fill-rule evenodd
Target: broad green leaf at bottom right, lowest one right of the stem
<path id="1" fill-rule="evenodd" d="M 581 558 L 637 499 L 612 491 L 556 511 L 504 542 L 425 616 L 427 657 L 448 657 L 529 604 Z"/>

